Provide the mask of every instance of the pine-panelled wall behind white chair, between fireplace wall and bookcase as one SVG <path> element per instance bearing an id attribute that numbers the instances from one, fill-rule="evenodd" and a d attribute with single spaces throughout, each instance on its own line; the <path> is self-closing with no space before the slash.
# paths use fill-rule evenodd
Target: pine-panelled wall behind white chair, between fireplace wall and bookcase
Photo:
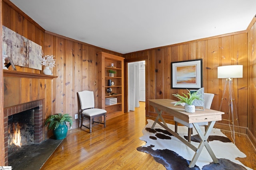
<path id="1" fill-rule="evenodd" d="M 81 43 L 49 32 L 44 37 L 45 54 L 54 55 L 56 66 L 52 69 L 54 79 L 54 113 L 78 114 L 77 92 L 94 91 L 95 107 L 98 107 L 98 68 L 96 53 L 104 51 L 122 56 L 105 49 Z M 73 127 L 78 127 L 78 119 Z"/>

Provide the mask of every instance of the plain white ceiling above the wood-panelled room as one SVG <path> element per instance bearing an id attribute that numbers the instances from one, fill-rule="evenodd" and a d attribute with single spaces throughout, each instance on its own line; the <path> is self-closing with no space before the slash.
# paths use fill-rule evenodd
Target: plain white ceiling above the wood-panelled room
<path id="1" fill-rule="evenodd" d="M 130 53 L 245 30 L 256 0 L 10 0 L 46 31 Z"/>

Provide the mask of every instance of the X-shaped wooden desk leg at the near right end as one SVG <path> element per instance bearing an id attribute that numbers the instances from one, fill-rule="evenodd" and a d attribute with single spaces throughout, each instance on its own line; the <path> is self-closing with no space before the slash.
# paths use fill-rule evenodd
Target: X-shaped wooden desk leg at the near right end
<path id="1" fill-rule="evenodd" d="M 205 132 L 205 134 L 202 133 L 202 131 L 201 131 L 201 129 L 198 126 L 197 123 L 193 123 L 193 125 L 194 125 L 194 127 L 195 127 L 195 129 L 196 129 L 196 131 L 197 131 L 197 133 L 198 133 L 198 135 L 200 137 L 200 139 L 201 139 L 201 142 L 200 142 L 200 144 L 198 146 L 198 150 L 194 154 L 194 157 L 192 158 L 192 160 L 191 160 L 191 162 L 190 162 L 190 164 L 188 166 L 189 168 L 193 168 L 195 166 L 196 161 L 198 160 L 198 157 L 199 157 L 200 153 L 202 152 L 204 146 L 206 147 L 207 151 L 209 152 L 210 156 L 212 157 L 212 160 L 214 161 L 214 163 L 219 163 L 218 159 L 216 158 L 214 152 L 212 151 L 212 149 L 211 149 L 211 147 L 210 147 L 210 145 L 209 145 L 209 143 L 207 141 L 207 139 L 208 139 L 208 137 L 210 135 L 210 132 L 212 131 L 212 128 L 213 128 L 215 122 L 216 121 L 210 122 L 210 124 L 209 124 L 209 126 L 208 126 L 208 128 L 207 128 L 207 130 Z"/>

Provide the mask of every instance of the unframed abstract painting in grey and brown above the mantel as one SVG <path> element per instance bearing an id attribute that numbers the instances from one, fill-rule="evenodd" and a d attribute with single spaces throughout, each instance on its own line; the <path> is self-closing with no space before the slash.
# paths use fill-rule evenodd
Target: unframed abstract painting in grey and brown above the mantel
<path id="1" fill-rule="evenodd" d="M 7 44 L 6 55 L 14 65 L 42 70 L 42 46 L 2 26 L 3 42 Z"/>

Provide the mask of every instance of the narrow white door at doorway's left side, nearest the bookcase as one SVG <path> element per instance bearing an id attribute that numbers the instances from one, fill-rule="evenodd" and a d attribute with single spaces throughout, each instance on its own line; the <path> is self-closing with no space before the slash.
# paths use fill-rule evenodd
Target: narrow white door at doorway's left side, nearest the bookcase
<path id="1" fill-rule="evenodd" d="M 128 63 L 128 110 L 135 110 L 135 100 L 134 100 L 134 64 Z"/>

